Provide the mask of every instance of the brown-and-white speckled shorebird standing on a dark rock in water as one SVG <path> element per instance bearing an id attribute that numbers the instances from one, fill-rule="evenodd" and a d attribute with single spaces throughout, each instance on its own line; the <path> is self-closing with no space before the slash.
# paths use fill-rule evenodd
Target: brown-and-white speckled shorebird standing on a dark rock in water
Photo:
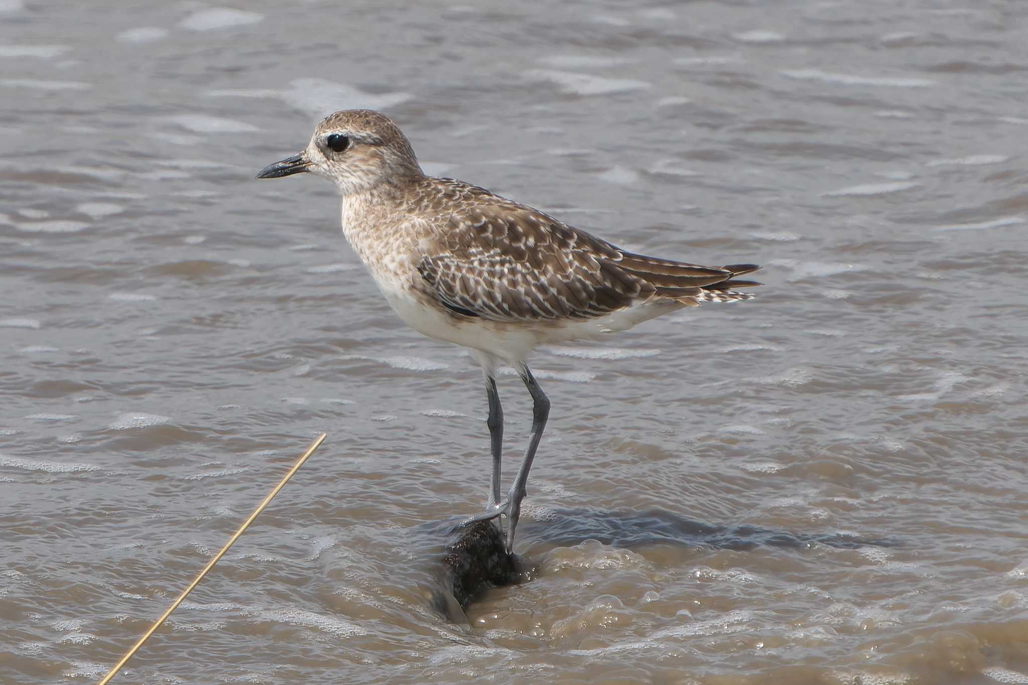
<path id="1" fill-rule="evenodd" d="M 507 553 L 550 401 L 528 370 L 542 344 L 595 340 L 683 307 L 748 300 L 755 264 L 699 266 L 636 255 L 533 207 L 454 179 L 427 176 L 407 138 L 372 110 L 343 110 L 299 154 L 258 179 L 308 172 L 342 195 L 342 232 L 410 328 L 463 345 L 482 368 L 492 477 L 485 511 L 507 518 Z M 497 371 L 517 371 L 533 401 L 531 435 L 501 500 L 504 412 Z"/>

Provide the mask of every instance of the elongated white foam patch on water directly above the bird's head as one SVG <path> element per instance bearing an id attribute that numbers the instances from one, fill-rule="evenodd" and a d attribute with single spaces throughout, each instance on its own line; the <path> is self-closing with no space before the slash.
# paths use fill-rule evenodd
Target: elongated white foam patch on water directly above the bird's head
<path id="1" fill-rule="evenodd" d="M 365 92 L 352 85 L 323 78 L 298 78 L 290 81 L 289 85 L 290 87 L 285 90 L 270 88 L 210 90 L 207 96 L 282 100 L 287 105 L 314 116 L 324 116 L 325 112 L 334 112 L 335 110 L 362 107 L 372 110 L 388 110 L 413 98 L 406 92 Z"/>

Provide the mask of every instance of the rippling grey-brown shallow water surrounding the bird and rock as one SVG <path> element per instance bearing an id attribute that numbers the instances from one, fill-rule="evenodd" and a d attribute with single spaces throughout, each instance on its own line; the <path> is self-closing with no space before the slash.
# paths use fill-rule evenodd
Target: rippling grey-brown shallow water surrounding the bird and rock
<path id="1" fill-rule="evenodd" d="M 0 1 L 0 682 L 1028 682 L 1028 4 Z M 525 584 L 448 623 L 480 374 L 315 179 L 427 170 L 754 302 L 546 349 Z M 507 475 L 528 398 L 501 386 Z"/>

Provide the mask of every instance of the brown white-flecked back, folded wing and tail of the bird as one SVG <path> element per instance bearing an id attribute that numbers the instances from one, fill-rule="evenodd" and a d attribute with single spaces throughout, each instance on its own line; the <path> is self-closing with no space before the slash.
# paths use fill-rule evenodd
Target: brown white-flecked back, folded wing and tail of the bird
<path id="1" fill-rule="evenodd" d="M 759 268 L 636 255 L 481 188 L 437 181 L 458 201 L 448 205 L 447 229 L 417 268 L 440 302 L 464 315 L 588 319 L 654 297 L 699 298 L 703 290 L 747 286 L 731 279 Z"/>

